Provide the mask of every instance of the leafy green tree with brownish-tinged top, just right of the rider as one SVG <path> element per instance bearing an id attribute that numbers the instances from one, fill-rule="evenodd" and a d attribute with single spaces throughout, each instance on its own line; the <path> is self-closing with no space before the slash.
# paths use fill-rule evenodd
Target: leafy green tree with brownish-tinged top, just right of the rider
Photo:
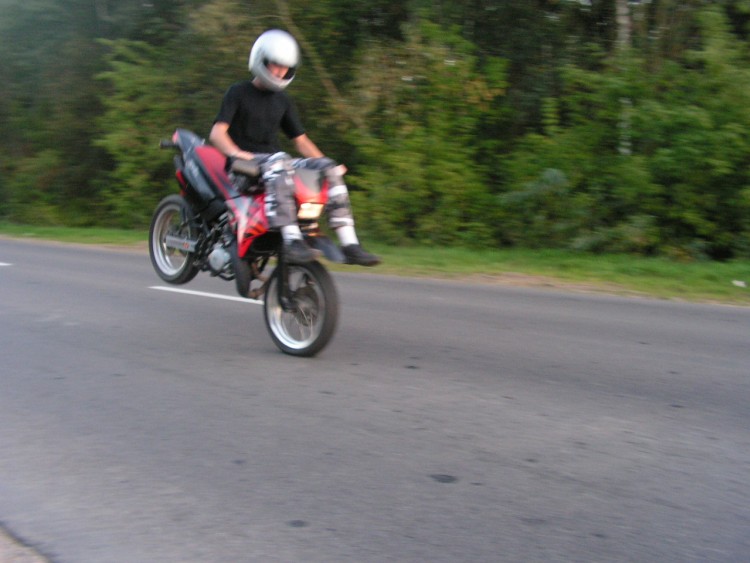
<path id="1" fill-rule="evenodd" d="M 360 223 L 392 241 L 492 240 L 492 199 L 475 160 L 475 134 L 502 94 L 504 64 L 477 69 L 455 30 L 420 20 L 403 45 L 365 53 L 351 107 L 369 124 L 359 148 L 367 162 L 353 179 Z"/>

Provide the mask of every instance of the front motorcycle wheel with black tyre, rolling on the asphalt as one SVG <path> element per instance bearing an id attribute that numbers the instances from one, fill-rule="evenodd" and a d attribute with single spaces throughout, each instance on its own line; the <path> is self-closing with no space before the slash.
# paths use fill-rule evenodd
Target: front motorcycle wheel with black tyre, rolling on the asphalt
<path id="1" fill-rule="evenodd" d="M 276 346 L 292 356 L 314 356 L 330 341 L 338 321 L 338 295 L 331 275 L 318 262 L 288 265 L 289 305 L 279 295 L 281 268 L 265 293 L 266 326 Z"/>

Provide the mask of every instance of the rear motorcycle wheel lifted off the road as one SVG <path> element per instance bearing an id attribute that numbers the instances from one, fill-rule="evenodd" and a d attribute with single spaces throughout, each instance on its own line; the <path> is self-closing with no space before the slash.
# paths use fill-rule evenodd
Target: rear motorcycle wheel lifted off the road
<path id="1" fill-rule="evenodd" d="M 187 202 L 178 195 L 165 197 L 156 207 L 149 231 L 149 254 L 159 277 L 172 284 L 192 280 L 198 229 Z"/>

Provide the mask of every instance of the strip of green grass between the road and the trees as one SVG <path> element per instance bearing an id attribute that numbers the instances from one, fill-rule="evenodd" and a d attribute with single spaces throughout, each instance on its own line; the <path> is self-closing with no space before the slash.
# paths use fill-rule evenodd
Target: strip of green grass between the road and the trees
<path id="1" fill-rule="evenodd" d="M 0 235 L 68 243 L 132 247 L 146 251 L 148 233 L 89 228 L 29 227 L 0 223 Z M 373 272 L 413 277 L 468 279 L 601 291 L 750 306 L 750 261 L 675 262 L 629 255 L 592 255 L 559 250 L 486 250 L 388 247 L 368 244 L 383 264 Z M 341 266 L 332 266 L 343 269 Z"/>

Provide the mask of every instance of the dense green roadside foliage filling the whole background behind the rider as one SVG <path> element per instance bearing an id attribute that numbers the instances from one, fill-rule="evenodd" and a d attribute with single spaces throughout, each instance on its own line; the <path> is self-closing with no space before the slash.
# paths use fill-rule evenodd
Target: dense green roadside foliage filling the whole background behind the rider
<path id="1" fill-rule="evenodd" d="M 143 227 L 264 29 L 368 236 L 750 257 L 748 0 L 0 0 L 0 215 Z"/>

